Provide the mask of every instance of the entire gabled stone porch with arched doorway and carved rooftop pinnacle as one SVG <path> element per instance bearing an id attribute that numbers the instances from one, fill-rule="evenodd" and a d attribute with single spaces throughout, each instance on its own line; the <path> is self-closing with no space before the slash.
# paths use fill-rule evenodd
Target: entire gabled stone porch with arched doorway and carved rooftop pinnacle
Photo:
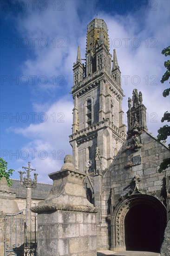
<path id="1" fill-rule="evenodd" d="M 158 252 L 170 219 L 170 168 L 161 174 L 158 169 L 169 150 L 147 132 L 146 108 L 137 89 L 132 103 L 129 98 L 127 140 L 103 173 L 101 219 L 108 223 L 112 250 Z"/>

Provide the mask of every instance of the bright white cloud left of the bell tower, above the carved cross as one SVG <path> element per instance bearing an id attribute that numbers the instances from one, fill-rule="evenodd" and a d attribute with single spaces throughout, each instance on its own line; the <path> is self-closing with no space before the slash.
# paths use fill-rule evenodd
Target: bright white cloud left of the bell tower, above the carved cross
<path id="1" fill-rule="evenodd" d="M 23 164 L 30 161 L 32 167 L 37 168 L 39 182 L 49 179 L 46 175 L 58 171 L 63 165 L 65 155 L 72 154 L 69 145 L 72 107 L 72 102 L 65 97 L 52 104 L 46 112 L 39 113 L 39 120 L 46 121 L 32 123 L 26 128 L 12 128 L 15 134 L 29 138 L 30 142 L 20 150 L 20 158 Z M 44 111 L 43 106 L 42 110 Z"/>

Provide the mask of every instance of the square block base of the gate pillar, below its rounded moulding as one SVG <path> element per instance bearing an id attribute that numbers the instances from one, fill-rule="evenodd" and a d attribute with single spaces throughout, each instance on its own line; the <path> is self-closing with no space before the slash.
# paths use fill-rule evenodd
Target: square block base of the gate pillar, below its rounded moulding
<path id="1" fill-rule="evenodd" d="M 39 256 L 96 256 L 96 216 L 56 211 L 38 218 Z"/>

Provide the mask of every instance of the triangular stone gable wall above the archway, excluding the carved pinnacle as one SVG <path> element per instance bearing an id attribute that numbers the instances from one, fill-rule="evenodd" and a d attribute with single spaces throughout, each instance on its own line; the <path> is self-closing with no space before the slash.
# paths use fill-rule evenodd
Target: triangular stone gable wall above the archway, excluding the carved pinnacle
<path id="1" fill-rule="evenodd" d="M 168 157 L 168 148 L 148 132 L 139 136 L 138 150 L 134 149 L 132 138 L 124 142 L 110 167 L 103 177 L 103 185 L 110 183 L 115 195 L 131 195 L 135 192 L 153 194 L 163 200 L 162 189 L 165 189 L 164 173 L 158 173 L 160 163 Z M 170 170 L 167 172 L 170 172 Z M 136 186 L 138 179 L 138 190 Z M 139 181 L 140 180 L 140 181 Z M 135 189 L 136 186 L 136 190 Z M 164 186 L 164 188 L 163 188 Z"/>

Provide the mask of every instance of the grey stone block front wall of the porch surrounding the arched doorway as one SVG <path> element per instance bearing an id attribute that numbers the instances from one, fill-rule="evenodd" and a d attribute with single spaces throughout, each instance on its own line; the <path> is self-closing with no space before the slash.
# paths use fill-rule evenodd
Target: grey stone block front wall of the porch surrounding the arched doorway
<path id="1" fill-rule="evenodd" d="M 97 225 L 98 249 L 111 248 L 116 235 L 116 233 L 111 235 L 115 232 L 111 219 L 114 214 L 112 209 L 125 198 L 130 199 L 135 193 L 151 196 L 158 200 L 164 208 L 163 211 L 166 211 L 165 176 L 170 175 L 170 169 L 161 174 L 157 170 L 163 159 L 169 156 L 167 147 L 157 142 L 157 139 L 148 132 L 140 135 L 140 147 L 137 150 L 132 149 L 131 144 L 131 138 L 124 142 L 118 155 L 103 175 L 101 217 Z M 170 213 L 168 218 L 169 215 Z"/>

